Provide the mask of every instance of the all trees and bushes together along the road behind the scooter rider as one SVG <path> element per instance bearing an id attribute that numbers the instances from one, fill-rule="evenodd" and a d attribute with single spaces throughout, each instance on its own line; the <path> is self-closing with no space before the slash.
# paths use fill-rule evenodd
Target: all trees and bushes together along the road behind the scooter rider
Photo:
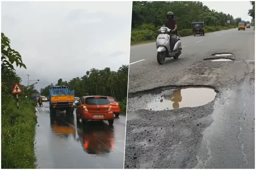
<path id="1" fill-rule="evenodd" d="M 192 34 L 192 22 L 203 21 L 205 33 L 236 28 L 241 18 L 230 14 L 210 10 L 203 2 L 196 1 L 162 1 L 138 2 L 132 5 L 131 45 L 152 42 L 158 36 L 157 30 L 165 23 L 166 13 L 172 11 L 178 23 L 181 37 Z M 230 24 L 227 24 L 230 20 Z"/>

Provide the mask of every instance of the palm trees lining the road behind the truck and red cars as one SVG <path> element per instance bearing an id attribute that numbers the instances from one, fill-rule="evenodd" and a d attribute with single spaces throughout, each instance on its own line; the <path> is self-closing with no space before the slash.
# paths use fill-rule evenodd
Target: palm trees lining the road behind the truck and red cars
<path id="1" fill-rule="evenodd" d="M 128 65 L 122 65 L 117 71 L 111 71 L 109 67 L 103 70 L 95 68 L 85 72 L 83 77 L 75 77 L 69 82 L 58 80 L 58 84 L 69 86 L 70 90 L 75 90 L 76 97 L 99 95 L 115 97 L 120 103 L 122 114 L 126 114 L 126 97 L 128 85 Z M 48 85 L 40 90 L 41 95 L 48 96 Z"/>

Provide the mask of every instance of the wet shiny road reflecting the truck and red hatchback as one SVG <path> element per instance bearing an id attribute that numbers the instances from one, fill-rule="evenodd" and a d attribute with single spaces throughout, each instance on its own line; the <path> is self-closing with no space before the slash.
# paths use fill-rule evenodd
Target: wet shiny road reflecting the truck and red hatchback
<path id="1" fill-rule="evenodd" d="M 50 117 L 49 102 L 37 107 L 35 153 L 38 168 L 123 168 L 125 117 L 94 121 L 82 127 L 76 115 L 57 112 Z M 39 126 L 38 126 L 39 125 Z"/>

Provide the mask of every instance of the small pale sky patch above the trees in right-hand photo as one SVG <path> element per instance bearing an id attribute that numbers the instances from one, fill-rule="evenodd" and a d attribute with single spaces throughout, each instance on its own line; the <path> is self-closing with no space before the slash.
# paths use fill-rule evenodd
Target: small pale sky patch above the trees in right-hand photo
<path id="1" fill-rule="evenodd" d="M 202 1 L 209 9 L 233 15 L 234 19 L 241 17 L 242 20 L 250 21 L 252 17 L 248 15 L 248 10 L 252 9 L 250 1 Z"/>

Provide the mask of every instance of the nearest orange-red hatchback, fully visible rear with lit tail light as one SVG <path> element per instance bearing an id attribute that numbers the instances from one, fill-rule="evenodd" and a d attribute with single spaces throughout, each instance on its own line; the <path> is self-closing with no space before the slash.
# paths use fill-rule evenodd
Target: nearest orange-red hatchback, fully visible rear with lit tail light
<path id="1" fill-rule="evenodd" d="M 84 96 L 76 103 L 76 120 L 81 123 L 88 120 L 107 120 L 109 125 L 114 123 L 112 106 L 106 96 Z"/>

